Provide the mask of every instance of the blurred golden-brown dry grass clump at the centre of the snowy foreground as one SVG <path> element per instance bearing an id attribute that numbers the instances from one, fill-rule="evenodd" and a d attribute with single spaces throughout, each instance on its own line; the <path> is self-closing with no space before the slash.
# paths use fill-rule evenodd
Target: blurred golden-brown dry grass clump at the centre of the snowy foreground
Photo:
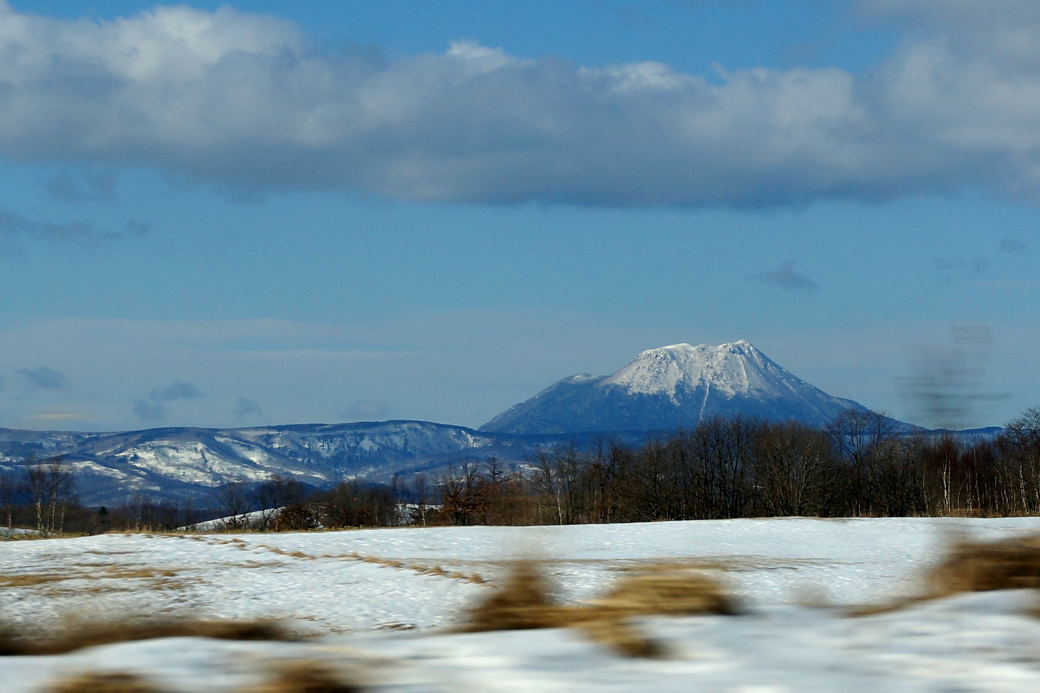
<path id="1" fill-rule="evenodd" d="M 628 657 L 659 657 L 664 647 L 632 625 L 638 616 L 735 614 L 737 604 L 713 578 L 688 569 L 661 569 L 623 578 L 602 597 L 562 606 L 532 561 L 514 564 L 505 583 L 468 614 L 462 632 L 578 628 L 587 637 Z"/>

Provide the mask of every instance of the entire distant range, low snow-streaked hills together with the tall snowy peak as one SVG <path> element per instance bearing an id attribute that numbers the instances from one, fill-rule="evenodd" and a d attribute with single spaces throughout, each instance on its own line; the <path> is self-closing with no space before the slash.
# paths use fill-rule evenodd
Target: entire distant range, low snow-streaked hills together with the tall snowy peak
<path id="1" fill-rule="evenodd" d="M 716 416 L 824 426 L 847 407 L 865 410 L 797 378 L 747 342 L 676 344 L 644 351 L 614 375 L 564 378 L 479 430 L 426 421 L 118 433 L 0 429 L 0 467 L 62 455 L 92 505 L 118 505 L 135 494 L 205 502 L 227 480 L 256 482 L 272 472 L 314 486 L 388 481 L 466 459 L 519 463 L 562 444 L 638 444 Z"/>

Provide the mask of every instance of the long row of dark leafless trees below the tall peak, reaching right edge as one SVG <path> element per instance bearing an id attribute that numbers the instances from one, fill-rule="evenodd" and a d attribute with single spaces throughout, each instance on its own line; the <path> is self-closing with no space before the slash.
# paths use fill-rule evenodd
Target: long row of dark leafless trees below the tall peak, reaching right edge
<path id="1" fill-rule="evenodd" d="M 893 424 L 857 409 L 823 429 L 713 419 L 641 446 L 546 451 L 515 470 L 465 462 L 435 487 L 457 525 L 1040 514 L 1040 409 L 972 442 Z"/>

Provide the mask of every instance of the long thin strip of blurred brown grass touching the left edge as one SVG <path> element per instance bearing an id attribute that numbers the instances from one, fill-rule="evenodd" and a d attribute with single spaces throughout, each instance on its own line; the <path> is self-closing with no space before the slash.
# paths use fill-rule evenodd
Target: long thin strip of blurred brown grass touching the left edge
<path id="1" fill-rule="evenodd" d="M 293 640 L 277 621 L 201 619 L 123 619 L 71 622 L 52 632 L 18 634 L 0 631 L 2 655 L 63 655 L 84 647 L 156 638 L 198 637 L 217 640 Z"/>

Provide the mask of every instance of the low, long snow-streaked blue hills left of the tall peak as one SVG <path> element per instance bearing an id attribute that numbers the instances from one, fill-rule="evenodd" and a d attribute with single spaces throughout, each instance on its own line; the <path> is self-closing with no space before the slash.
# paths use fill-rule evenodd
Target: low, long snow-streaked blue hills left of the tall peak
<path id="1" fill-rule="evenodd" d="M 225 481 L 260 481 L 272 472 L 315 486 L 341 479 L 385 482 L 395 473 L 491 455 L 522 461 L 542 446 L 570 438 L 479 433 L 425 421 L 122 433 L 0 429 L 0 469 L 63 455 L 78 473 L 84 503 L 118 505 L 138 492 L 156 500 L 207 500 Z"/>

